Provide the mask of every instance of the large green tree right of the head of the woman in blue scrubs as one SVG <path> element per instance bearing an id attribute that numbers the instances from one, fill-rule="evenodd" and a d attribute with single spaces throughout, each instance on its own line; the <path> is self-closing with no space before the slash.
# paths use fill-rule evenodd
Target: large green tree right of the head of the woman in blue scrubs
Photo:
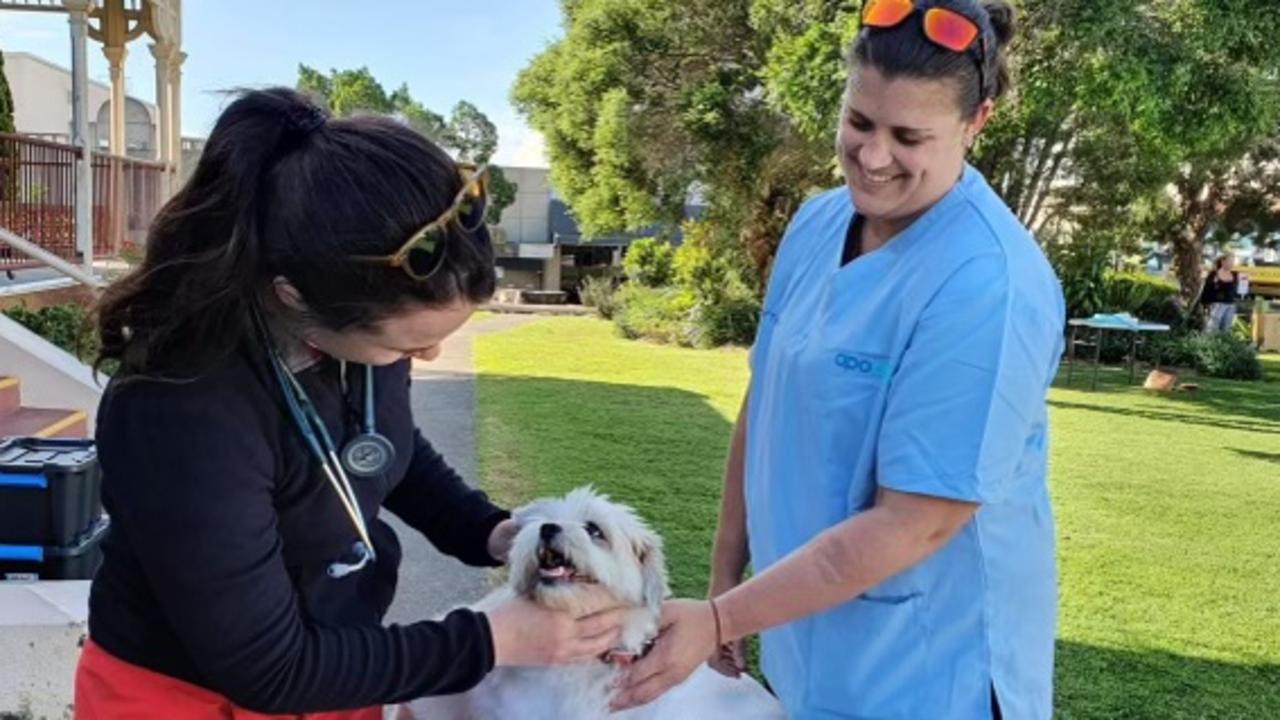
<path id="1" fill-rule="evenodd" d="M 1230 178 L 1280 119 L 1275 4 L 1021 6 L 1019 91 L 984 133 L 979 167 L 1048 237 L 1151 232 L 1174 250 L 1190 301 Z"/>

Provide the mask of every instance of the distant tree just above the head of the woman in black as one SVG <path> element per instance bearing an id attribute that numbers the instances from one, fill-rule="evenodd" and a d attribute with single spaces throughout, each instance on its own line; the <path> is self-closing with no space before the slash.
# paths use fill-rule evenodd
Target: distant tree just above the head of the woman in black
<path id="1" fill-rule="evenodd" d="M 488 164 L 498 149 L 498 128 L 471 102 L 460 101 L 445 122 L 443 115 L 413 100 L 408 85 L 402 83 L 388 95 L 369 68 L 333 69 L 325 76 L 300 64 L 297 88 L 326 106 L 334 117 L 358 113 L 394 115 L 463 163 Z M 489 168 L 489 224 L 502 222 L 502 211 L 516 201 L 516 183 L 507 179 L 502 168 Z"/>

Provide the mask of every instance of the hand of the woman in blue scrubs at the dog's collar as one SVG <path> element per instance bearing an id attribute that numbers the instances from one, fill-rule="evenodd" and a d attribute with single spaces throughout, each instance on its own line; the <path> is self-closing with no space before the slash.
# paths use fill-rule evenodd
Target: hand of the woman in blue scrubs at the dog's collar
<path id="1" fill-rule="evenodd" d="M 684 682 L 716 650 L 716 616 L 710 603 L 668 601 L 662 607 L 658 642 L 622 676 L 609 708 L 627 710 L 652 702 Z"/>

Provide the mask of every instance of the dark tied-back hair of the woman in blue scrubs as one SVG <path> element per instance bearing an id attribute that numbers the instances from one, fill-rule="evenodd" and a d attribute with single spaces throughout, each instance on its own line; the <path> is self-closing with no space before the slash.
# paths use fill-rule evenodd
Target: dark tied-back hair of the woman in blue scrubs
<path id="1" fill-rule="evenodd" d="M 977 22 L 983 41 L 965 53 L 954 53 L 924 37 L 919 13 L 947 8 Z M 887 77 L 948 79 L 964 117 L 973 117 L 988 97 L 1009 91 L 1011 78 L 1005 50 L 1014 36 L 1014 9 L 1006 0 L 932 0 L 897 26 L 865 27 L 854 40 L 850 63 L 878 69 Z M 983 58 L 979 58 L 986 49 Z M 978 63 L 983 63 L 986 87 L 980 87 Z"/>

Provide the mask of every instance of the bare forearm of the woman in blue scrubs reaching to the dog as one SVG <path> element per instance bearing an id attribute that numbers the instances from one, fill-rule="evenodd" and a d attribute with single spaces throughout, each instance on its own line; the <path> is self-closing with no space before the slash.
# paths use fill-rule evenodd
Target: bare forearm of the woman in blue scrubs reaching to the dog
<path id="1" fill-rule="evenodd" d="M 920 562 L 973 516 L 975 505 L 902 493 L 815 537 L 717 598 L 727 642 L 847 602 Z"/>

